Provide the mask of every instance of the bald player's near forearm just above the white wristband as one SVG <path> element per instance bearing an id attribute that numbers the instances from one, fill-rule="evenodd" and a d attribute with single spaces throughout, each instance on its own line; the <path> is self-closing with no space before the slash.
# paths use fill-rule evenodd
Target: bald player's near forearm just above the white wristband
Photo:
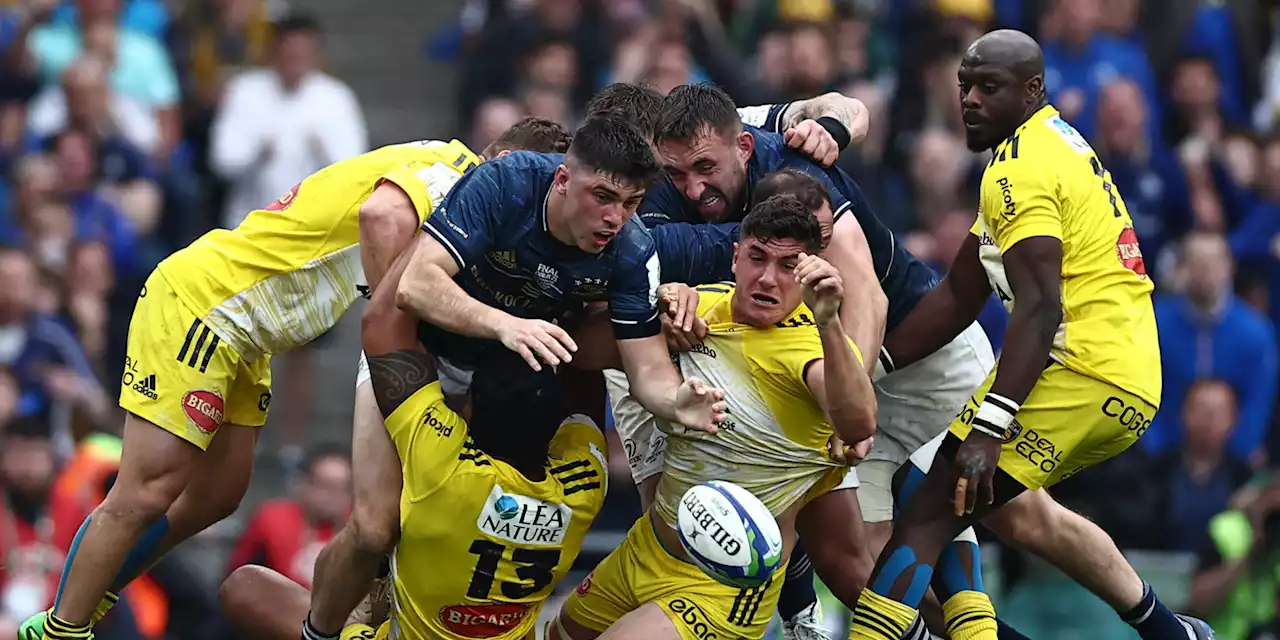
<path id="1" fill-rule="evenodd" d="M 1019 300 L 1009 314 L 1000 369 L 988 393 L 1016 402 L 1027 401 L 1039 380 L 1053 347 L 1053 334 L 1062 321 L 1062 307 L 1056 300 Z"/>

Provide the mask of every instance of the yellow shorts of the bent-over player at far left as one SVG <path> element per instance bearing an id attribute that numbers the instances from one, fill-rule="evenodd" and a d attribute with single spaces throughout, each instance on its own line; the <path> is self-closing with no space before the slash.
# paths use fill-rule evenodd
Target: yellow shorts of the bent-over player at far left
<path id="1" fill-rule="evenodd" d="M 120 407 L 207 449 L 224 424 L 262 426 L 270 403 L 270 357 L 244 362 L 152 271 L 129 320 Z"/>

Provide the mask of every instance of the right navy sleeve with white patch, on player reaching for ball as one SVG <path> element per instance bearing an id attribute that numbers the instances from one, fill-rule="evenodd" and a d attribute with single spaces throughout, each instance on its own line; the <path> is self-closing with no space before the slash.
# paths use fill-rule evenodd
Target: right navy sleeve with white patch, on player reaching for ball
<path id="1" fill-rule="evenodd" d="M 609 274 L 609 317 L 620 340 L 649 338 L 662 332 L 658 320 L 658 285 L 662 266 L 653 237 L 639 220 L 630 220 L 618 242 L 618 257 Z"/>

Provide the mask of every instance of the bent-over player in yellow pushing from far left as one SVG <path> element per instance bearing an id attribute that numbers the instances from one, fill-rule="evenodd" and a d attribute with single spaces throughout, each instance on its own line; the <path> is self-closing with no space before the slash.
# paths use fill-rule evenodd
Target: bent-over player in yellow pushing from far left
<path id="1" fill-rule="evenodd" d="M 545 138 L 545 124 L 504 138 Z M 125 367 L 138 381 L 120 389 L 119 477 L 77 534 L 54 608 L 23 623 L 23 640 L 91 637 L 155 558 L 236 511 L 271 399 L 270 355 L 325 333 L 376 287 L 479 163 L 457 141 L 343 160 L 156 268 L 129 325 Z"/>

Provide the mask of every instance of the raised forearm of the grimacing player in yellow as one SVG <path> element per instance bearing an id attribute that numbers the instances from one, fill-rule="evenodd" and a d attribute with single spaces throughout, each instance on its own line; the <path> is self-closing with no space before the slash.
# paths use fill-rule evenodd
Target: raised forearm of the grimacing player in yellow
<path id="1" fill-rule="evenodd" d="M 867 369 L 849 346 L 838 317 L 819 325 L 818 337 L 831 426 L 845 442 L 865 440 L 876 434 L 876 389 Z"/>

